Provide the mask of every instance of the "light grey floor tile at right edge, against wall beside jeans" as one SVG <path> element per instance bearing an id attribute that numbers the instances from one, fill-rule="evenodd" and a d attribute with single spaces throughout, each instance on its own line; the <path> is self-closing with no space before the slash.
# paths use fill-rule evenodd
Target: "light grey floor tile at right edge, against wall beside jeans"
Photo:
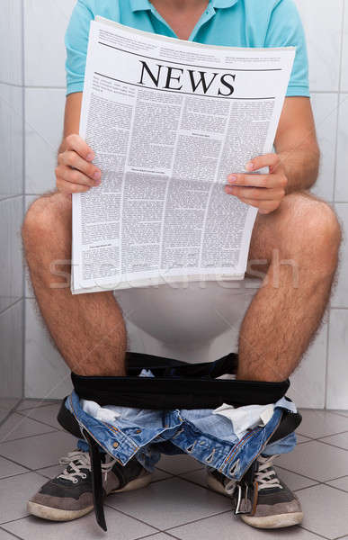
<path id="1" fill-rule="evenodd" d="M 348 419 L 327 410 L 301 410 L 299 434 L 311 438 L 326 437 L 348 430 Z"/>

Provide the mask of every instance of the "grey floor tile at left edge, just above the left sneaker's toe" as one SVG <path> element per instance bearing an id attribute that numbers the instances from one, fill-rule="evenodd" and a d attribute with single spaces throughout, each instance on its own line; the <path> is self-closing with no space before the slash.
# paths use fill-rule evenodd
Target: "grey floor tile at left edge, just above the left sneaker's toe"
<path id="1" fill-rule="evenodd" d="M 18 464 L 31 469 L 39 469 L 58 464 L 59 457 L 67 455 L 67 452 L 71 452 L 74 448 L 76 448 L 76 437 L 63 431 L 54 431 L 47 435 L 2 443 L 0 455 L 10 457 Z M 337 476 L 340 475 L 336 474 Z"/>

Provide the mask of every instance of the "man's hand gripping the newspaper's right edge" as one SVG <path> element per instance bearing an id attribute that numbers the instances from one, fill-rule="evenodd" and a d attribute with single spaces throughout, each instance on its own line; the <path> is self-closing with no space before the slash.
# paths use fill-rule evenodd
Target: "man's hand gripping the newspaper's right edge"
<path id="1" fill-rule="evenodd" d="M 254 173 L 263 166 L 269 167 L 268 175 L 229 175 L 225 191 L 236 195 L 240 201 L 255 206 L 260 213 L 268 214 L 280 206 L 286 195 L 288 178 L 277 154 L 254 157 L 246 164 L 245 170 Z"/>

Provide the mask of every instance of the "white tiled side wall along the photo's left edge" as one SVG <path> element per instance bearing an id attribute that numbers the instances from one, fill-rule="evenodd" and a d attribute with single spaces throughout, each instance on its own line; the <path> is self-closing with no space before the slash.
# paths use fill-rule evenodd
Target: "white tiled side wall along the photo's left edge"
<path id="1" fill-rule="evenodd" d="M 22 398 L 23 215 L 22 0 L 0 17 L 0 421 Z"/>

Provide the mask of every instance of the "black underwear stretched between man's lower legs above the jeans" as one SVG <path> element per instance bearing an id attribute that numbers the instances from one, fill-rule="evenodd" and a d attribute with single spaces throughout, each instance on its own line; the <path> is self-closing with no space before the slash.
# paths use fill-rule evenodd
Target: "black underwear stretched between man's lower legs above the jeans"
<path id="1" fill-rule="evenodd" d="M 216 362 L 187 364 L 159 356 L 127 353 L 125 377 L 84 377 L 72 374 L 80 398 L 99 405 L 121 405 L 139 409 L 216 409 L 222 403 L 267 405 L 281 399 L 289 380 L 260 383 L 217 379 L 236 374 L 238 356 L 231 353 Z M 138 377 L 149 369 L 155 377 Z"/>

